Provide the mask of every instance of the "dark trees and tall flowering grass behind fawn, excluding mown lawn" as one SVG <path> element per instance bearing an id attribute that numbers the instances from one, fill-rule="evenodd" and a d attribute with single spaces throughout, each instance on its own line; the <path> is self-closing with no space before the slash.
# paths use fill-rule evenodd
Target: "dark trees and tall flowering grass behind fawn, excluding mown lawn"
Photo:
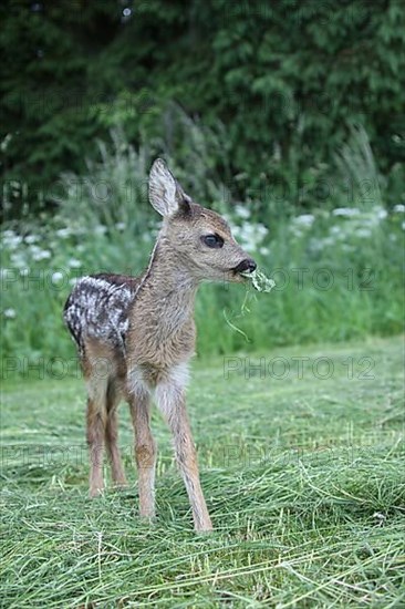
<path id="1" fill-rule="evenodd" d="M 401 331 L 401 0 L 0 10 L 7 374 L 73 357 L 76 277 L 145 267 L 156 155 L 277 282 L 204 287 L 200 355 Z"/>

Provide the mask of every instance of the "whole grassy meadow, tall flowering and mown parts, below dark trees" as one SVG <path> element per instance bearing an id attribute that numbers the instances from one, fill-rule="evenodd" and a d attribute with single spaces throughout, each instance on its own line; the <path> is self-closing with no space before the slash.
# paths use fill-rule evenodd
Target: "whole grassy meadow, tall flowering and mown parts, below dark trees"
<path id="1" fill-rule="evenodd" d="M 63 176 L 52 215 L 1 228 L 2 606 L 404 606 L 405 205 L 386 205 L 364 137 L 310 209 L 268 190 L 230 204 L 197 157 L 191 180 L 173 164 L 276 281 L 197 297 L 189 412 L 215 533 L 193 533 L 157 413 L 156 522 L 137 517 L 125 407 L 129 487 L 87 499 L 63 304 L 82 275 L 138 273 L 158 230 L 147 154 L 120 137 Z"/>

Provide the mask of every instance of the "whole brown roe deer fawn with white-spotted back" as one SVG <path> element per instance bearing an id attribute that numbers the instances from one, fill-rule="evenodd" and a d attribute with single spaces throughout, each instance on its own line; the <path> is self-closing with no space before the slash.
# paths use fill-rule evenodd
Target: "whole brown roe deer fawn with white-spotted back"
<path id="1" fill-rule="evenodd" d="M 174 436 L 196 530 L 210 530 L 185 403 L 187 364 L 195 350 L 194 301 L 202 280 L 245 281 L 256 262 L 226 220 L 194 203 L 162 159 L 149 175 L 149 202 L 163 216 L 149 266 L 138 278 L 83 277 L 64 308 L 87 386 L 90 494 L 103 489 L 103 453 L 113 481 L 125 485 L 116 409 L 124 398 L 135 433 L 141 516 L 155 513 L 156 445 L 150 432 L 154 394 Z"/>

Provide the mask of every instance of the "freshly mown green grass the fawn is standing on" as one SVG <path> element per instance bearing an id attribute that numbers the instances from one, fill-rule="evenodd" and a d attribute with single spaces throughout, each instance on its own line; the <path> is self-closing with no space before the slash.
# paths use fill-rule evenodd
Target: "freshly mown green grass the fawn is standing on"
<path id="1" fill-rule="evenodd" d="M 284 358 L 290 373 L 261 378 L 260 357 L 278 375 Z M 326 375 L 321 357 L 334 365 L 326 380 L 313 372 L 318 362 Z M 158 516 L 148 525 L 137 516 L 124 405 L 131 486 L 91 502 L 83 383 L 6 383 L 3 607 L 404 606 L 402 339 L 249 358 L 230 362 L 228 379 L 221 359 L 194 367 L 188 407 L 209 536 L 193 533 L 156 412 Z M 292 358 L 309 358 L 301 374 Z"/>

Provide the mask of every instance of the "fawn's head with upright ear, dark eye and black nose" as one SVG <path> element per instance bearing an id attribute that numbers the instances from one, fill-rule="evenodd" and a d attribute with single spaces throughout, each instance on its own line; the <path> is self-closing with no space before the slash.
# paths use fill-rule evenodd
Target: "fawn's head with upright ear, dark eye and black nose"
<path id="1" fill-rule="evenodd" d="M 156 159 L 149 175 L 149 202 L 164 217 L 159 255 L 170 252 L 196 280 L 243 281 L 256 262 L 233 239 L 228 223 L 186 195 L 164 161 Z"/>

